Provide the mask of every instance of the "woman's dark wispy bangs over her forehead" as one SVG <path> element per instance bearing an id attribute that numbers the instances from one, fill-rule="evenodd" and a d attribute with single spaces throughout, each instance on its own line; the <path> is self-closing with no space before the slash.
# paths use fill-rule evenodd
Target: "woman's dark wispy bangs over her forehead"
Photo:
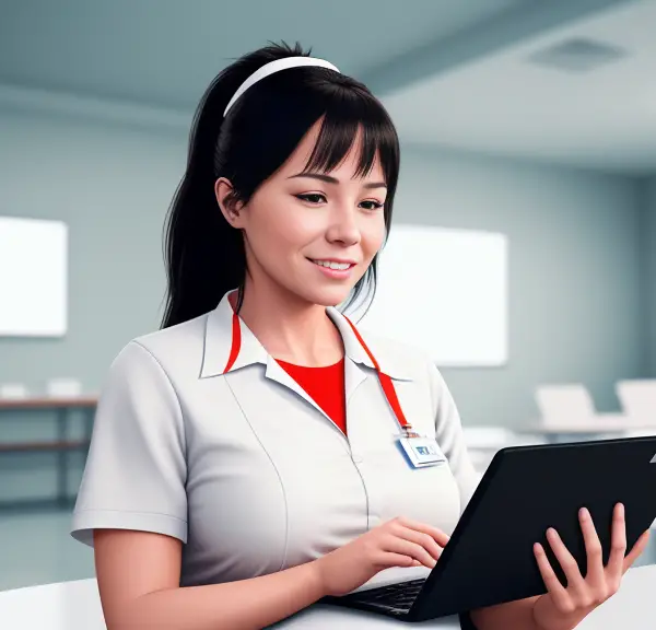
<path id="1" fill-rule="evenodd" d="M 382 105 L 371 96 L 339 94 L 323 116 L 317 142 L 307 161 L 308 172 L 336 168 L 360 141 L 355 175 L 365 177 L 376 158 L 388 189 L 396 188 L 399 172 L 399 140 Z"/>

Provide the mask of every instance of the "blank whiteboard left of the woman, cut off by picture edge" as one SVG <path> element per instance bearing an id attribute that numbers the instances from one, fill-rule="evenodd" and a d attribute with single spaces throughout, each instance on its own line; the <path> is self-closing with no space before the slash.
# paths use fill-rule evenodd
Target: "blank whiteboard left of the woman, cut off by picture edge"
<path id="1" fill-rule="evenodd" d="M 0 336 L 62 337 L 67 307 L 67 225 L 0 217 Z"/>

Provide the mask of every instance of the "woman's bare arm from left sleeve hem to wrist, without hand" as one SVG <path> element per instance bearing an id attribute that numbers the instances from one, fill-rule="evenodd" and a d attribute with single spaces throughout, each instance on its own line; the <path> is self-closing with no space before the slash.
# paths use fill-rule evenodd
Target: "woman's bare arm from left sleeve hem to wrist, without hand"
<path id="1" fill-rule="evenodd" d="M 257 630 L 324 596 L 313 562 L 239 582 L 179 587 L 181 542 L 175 538 L 99 529 L 94 547 L 108 630 Z"/>

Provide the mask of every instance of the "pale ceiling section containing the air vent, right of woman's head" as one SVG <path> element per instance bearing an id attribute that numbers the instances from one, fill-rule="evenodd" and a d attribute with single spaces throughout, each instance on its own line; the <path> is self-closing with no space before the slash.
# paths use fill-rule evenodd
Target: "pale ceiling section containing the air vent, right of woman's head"
<path id="1" fill-rule="evenodd" d="M 656 0 L 549 30 L 385 98 L 408 141 L 626 174 L 656 172 Z M 625 56 L 588 71 L 530 61 L 569 39 Z"/>

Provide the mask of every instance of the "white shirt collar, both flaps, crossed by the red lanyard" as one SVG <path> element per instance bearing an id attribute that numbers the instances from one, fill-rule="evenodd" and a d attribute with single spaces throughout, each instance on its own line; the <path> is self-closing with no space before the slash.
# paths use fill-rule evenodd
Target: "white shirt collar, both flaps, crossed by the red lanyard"
<path id="1" fill-rule="evenodd" d="M 232 291 L 226 293 L 216 308 L 207 316 L 201 378 L 220 376 L 256 363 L 268 364 L 267 350 L 241 317 L 237 318 L 239 330 L 234 329 L 234 311 L 229 301 L 230 293 Z M 403 357 L 391 351 L 379 340 L 370 338 L 366 334 L 355 332 L 347 317 L 335 306 L 328 306 L 326 313 L 342 337 L 348 359 L 375 370 L 368 352 L 358 339 L 360 335 L 384 374 L 398 381 L 412 381 L 410 365 Z"/>

